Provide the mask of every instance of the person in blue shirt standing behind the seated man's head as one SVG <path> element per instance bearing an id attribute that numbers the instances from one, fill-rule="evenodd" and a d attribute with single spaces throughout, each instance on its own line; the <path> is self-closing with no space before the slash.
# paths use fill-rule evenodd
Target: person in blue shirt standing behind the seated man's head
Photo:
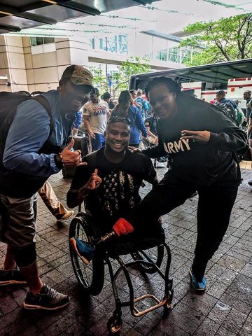
<path id="1" fill-rule="evenodd" d="M 130 91 L 125 90 L 120 93 L 118 105 L 113 109 L 111 116 L 120 116 L 130 119 L 130 146 L 139 147 L 140 132 L 144 138 L 147 137 L 147 130 L 141 112 L 133 105 Z"/>

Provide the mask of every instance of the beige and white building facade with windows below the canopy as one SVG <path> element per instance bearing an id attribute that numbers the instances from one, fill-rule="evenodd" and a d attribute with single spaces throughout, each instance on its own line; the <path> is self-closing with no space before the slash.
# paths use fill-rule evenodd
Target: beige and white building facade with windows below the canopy
<path id="1" fill-rule="evenodd" d="M 0 90 L 55 89 L 70 64 L 104 69 L 109 76 L 130 56 L 146 57 L 152 69 L 165 70 L 183 67 L 183 55 L 188 52 L 183 53 L 178 42 L 139 32 L 91 38 L 2 35 Z"/>

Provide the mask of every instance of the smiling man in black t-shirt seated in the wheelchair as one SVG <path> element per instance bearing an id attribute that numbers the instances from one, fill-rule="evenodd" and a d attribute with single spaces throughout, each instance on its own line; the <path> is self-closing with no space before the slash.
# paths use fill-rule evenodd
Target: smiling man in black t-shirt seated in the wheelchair
<path id="1" fill-rule="evenodd" d="M 127 149 L 129 141 L 130 120 L 111 117 L 106 127 L 105 146 L 83 158 L 87 165 L 77 167 L 66 196 L 70 208 L 85 202 L 90 221 L 99 228 L 97 235 L 100 237 L 111 232 L 113 224 L 128 216 L 137 206 L 141 200 L 139 188 L 143 180 L 153 186 L 158 183 L 151 159 L 142 153 L 131 153 Z M 150 226 L 151 230 L 147 230 Z M 136 247 L 144 248 L 145 241 L 148 241 L 148 247 L 151 241 L 153 246 L 165 241 L 160 222 L 156 225 L 146 223 L 144 232 L 136 226 L 134 233 L 112 239 L 109 244 L 126 244 L 127 253 L 130 253 L 129 250 L 134 251 Z M 77 237 L 72 237 L 70 243 L 88 265 L 95 246 L 87 245 Z"/>

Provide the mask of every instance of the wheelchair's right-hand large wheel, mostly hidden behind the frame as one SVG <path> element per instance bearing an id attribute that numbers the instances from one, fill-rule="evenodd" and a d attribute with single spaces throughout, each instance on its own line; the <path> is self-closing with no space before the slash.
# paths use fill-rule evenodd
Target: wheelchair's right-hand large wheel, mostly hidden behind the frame
<path id="1" fill-rule="evenodd" d="M 144 250 L 144 253 L 146 253 L 146 255 L 148 255 L 148 257 L 151 258 L 151 260 L 155 263 L 155 265 L 157 265 L 158 267 L 161 266 L 162 260 L 164 258 L 164 246 L 163 245 L 149 248 L 148 250 Z M 141 251 L 137 253 L 131 253 L 131 255 L 134 260 L 148 261 L 146 257 L 141 253 Z M 148 274 L 153 274 L 157 272 L 157 269 L 155 269 L 154 266 L 148 266 L 148 265 L 141 264 L 138 266 L 138 268 L 142 272 L 145 272 Z"/>

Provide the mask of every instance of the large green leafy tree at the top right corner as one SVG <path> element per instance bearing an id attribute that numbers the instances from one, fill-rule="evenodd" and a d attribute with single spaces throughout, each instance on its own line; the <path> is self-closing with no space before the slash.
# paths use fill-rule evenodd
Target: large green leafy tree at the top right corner
<path id="1" fill-rule="evenodd" d="M 237 15 L 218 21 L 196 22 L 184 31 L 191 36 L 181 46 L 203 47 L 188 66 L 211 64 L 252 57 L 252 14 Z"/>

